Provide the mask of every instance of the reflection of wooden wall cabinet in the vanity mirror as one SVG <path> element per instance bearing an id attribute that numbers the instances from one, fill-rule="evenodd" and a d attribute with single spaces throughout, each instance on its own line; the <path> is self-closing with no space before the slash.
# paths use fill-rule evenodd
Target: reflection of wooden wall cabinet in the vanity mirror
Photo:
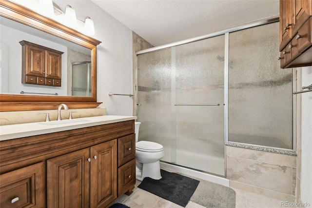
<path id="1" fill-rule="evenodd" d="M 63 52 L 21 41 L 22 83 L 61 86 Z"/>

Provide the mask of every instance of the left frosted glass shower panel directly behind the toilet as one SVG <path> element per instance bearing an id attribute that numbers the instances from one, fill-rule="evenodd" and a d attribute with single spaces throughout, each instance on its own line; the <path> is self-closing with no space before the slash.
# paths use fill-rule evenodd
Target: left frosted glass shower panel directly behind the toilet
<path id="1" fill-rule="evenodd" d="M 139 141 L 152 141 L 164 146 L 163 161 L 171 162 L 171 49 L 137 56 L 137 117 L 141 122 Z M 175 125 L 175 124 L 174 124 Z"/>

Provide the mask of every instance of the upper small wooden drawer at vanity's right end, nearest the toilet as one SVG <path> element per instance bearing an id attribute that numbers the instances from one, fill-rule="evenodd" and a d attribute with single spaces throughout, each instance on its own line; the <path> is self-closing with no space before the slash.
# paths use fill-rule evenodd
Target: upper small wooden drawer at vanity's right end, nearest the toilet
<path id="1" fill-rule="evenodd" d="M 118 138 L 118 167 L 136 157 L 136 134 Z"/>

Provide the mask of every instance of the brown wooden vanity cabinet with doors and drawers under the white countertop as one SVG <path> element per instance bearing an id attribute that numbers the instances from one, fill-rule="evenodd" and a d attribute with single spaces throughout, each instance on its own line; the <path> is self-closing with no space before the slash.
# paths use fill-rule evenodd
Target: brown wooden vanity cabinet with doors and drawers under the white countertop
<path id="1" fill-rule="evenodd" d="M 134 132 L 131 120 L 1 141 L 0 207 L 109 207 L 135 186 Z"/>

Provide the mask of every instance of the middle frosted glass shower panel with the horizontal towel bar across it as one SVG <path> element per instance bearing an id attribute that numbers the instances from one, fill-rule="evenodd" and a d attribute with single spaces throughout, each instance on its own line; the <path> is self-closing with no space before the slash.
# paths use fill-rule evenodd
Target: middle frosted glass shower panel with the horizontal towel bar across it
<path id="1" fill-rule="evenodd" d="M 224 175 L 224 36 L 176 46 L 175 61 L 176 163 Z"/>

